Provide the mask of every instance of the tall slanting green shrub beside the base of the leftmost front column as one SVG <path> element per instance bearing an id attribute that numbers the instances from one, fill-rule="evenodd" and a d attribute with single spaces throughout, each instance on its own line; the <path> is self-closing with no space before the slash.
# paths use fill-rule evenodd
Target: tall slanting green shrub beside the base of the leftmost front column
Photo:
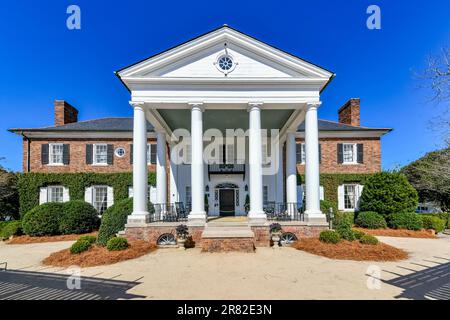
<path id="1" fill-rule="evenodd" d="M 97 243 L 106 246 L 108 240 L 122 231 L 128 216 L 133 212 L 133 198 L 117 201 L 102 215 Z"/>

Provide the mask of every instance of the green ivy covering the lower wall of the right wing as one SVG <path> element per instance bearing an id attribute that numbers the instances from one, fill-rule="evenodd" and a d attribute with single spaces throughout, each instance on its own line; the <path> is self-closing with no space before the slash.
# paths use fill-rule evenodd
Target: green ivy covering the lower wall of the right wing
<path id="1" fill-rule="evenodd" d="M 368 173 L 323 173 L 320 175 L 320 185 L 323 186 L 325 200 L 338 204 L 338 186 L 345 183 L 358 183 L 364 185 L 367 178 L 372 176 Z M 304 175 L 297 175 L 297 184 L 305 182 Z"/>

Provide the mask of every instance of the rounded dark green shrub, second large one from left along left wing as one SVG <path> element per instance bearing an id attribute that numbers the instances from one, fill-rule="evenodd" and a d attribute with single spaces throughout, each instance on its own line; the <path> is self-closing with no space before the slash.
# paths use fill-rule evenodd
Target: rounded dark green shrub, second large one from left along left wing
<path id="1" fill-rule="evenodd" d="M 98 228 L 99 221 L 92 205 L 81 200 L 69 201 L 63 204 L 59 231 L 62 234 L 89 233 Z"/>

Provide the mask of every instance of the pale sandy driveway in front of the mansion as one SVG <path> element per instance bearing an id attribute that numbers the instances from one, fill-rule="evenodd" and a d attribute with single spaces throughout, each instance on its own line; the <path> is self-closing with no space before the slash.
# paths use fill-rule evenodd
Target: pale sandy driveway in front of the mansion
<path id="1" fill-rule="evenodd" d="M 411 257 L 401 262 L 370 263 L 330 260 L 291 248 L 260 248 L 254 254 L 166 249 L 111 266 L 86 268 L 82 275 L 139 279 L 140 284 L 128 293 L 147 299 L 393 299 L 403 289 L 374 281 L 368 272 L 380 271 L 382 280 L 392 280 L 450 262 L 448 236 L 380 240 L 407 250 Z M 8 269 L 64 273 L 62 268 L 44 267 L 40 261 L 70 244 L 0 243 L 0 262 L 7 261 Z M 381 287 L 376 289 L 378 284 Z"/>

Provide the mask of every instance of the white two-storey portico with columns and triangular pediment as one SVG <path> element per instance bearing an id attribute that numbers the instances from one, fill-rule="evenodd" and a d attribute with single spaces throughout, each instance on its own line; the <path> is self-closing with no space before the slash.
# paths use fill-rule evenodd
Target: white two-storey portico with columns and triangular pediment
<path id="1" fill-rule="evenodd" d="M 129 88 L 134 108 L 134 211 L 129 223 L 151 221 L 146 121 L 157 137 L 157 202 L 189 204 L 193 224 L 227 212 L 264 222 L 271 214 L 269 202 L 297 203 L 295 132 L 305 122 L 304 220 L 326 221 L 320 211 L 317 109 L 331 72 L 224 26 L 117 75 Z M 190 133 L 190 147 L 183 153 L 172 152 L 185 142 L 176 134 L 179 129 Z M 246 133 L 241 153 L 235 146 L 239 137 L 231 142 L 225 138 L 229 129 Z M 224 136 L 214 159 L 205 155 L 212 141 L 205 133 L 211 130 Z M 269 147 L 262 130 L 277 130 L 278 144 Z M 161 208 L 164 215 L 166 206 Z M 297 206 L 285 211 L 294 216 Z"/>

